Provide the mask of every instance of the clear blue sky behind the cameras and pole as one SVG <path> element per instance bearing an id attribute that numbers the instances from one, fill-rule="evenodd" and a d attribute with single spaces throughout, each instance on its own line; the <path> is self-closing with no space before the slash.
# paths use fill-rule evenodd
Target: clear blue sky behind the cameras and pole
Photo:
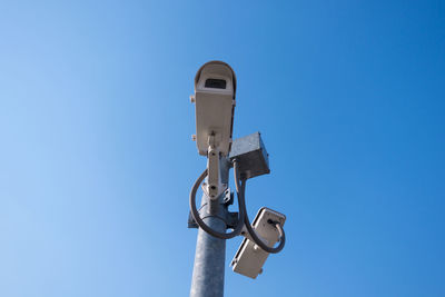
<path id="1" fill-rule="evenodd" d="M 240 3 L 243 2 L 243 3 Z M 0 296 L 188 296 L 188 96 L 238 77 L 288 242 L 226 296 L 445 296 L 443 1 L 2 1 Z"/>

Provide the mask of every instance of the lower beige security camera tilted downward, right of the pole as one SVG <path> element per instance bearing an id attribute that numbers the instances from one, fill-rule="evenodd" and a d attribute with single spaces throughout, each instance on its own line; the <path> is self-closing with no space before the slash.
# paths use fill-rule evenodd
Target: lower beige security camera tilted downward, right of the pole
<path id="1" fill-rule="evenodd" d="M 279 222 L 283 226 L 285 220 L 285 215 L 263 207 L 255 217 L 253 227 L 256 234 L 263 238 L 263 241 L 273 247 L 279 240 L 279 232 L 273 222 Z M 235 254 L 230 266 L 235 273 L 255 279 L 263 273 L 263 266 L 269 253 L 258 247 L 246 230 L 244 230 L 244 234 L 246 238 Z"/>

